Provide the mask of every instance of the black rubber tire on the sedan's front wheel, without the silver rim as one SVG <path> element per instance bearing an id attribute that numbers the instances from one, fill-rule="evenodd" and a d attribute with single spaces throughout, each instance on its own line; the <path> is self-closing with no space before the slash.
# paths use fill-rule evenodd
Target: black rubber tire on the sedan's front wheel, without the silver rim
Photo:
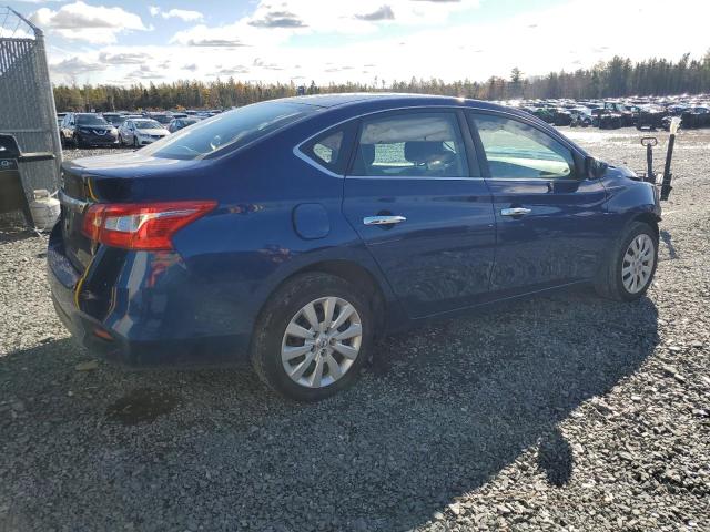
<path id="1" fill-rule="evenodd" d="M 623 257 L 631 242 L 633 242 L 633 239 L 641 234 L 650 236 L 651 242 L 653 243 L 653 265 L 651 268 L 651 275 L 646 282 L 646 285 L 639 291 L 631 293 L 623 285 L 621 273 L 623 268 Z M 653 276 L 656 275 L 657 265 L 658 234 L 656 233 L 656 229 L 643 222 L 632 222 L 628 227 L 625 236 L 620 238 L 613 246 L 611 253 L 599 270 L 599 275 L 597 276 L 595 283 L 597 294 L 599 294 L 601 297 L 615 299 L 617 301 L 633 301 L 636 299 L 639 299 L 648 291 L 649 286 L 651 286 L 651 284 L 653 283 Z"/>

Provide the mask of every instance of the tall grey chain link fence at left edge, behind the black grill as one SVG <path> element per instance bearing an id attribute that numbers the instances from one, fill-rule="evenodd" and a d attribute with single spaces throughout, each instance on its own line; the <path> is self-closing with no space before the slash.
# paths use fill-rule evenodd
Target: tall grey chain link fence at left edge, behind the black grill
<path id="1" fill-rule="evenodd" d="M 44 35 L 9 7 L 0 7 L 0 133 L 14 135 L 23 152 L 57 154 L 54 161 L 22 165 L 30 201 L 37 188 L 59 188 L 61 143 Z"/>

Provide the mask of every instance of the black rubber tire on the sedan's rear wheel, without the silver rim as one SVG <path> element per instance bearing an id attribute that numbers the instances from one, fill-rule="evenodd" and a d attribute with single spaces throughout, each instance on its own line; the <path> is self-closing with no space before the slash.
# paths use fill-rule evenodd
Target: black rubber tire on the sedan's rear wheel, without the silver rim
<path id="1" fill-rule="evenodd" d="M 338 297 L 349 303 L 362 325 L 362 341 L 352 366 L 334 382 L 321 388 L 298 385 L 288 377 L 281 359 L 286 327 L 302 308 L 321 297 Z M 374 313 L 354 285 L 318 272 L 298 275 L 270 297 L 254 327 L 251 359 L 260 379 L 280 395 L 296 401 L 318 401 L 352 386 L 369 357 L 373 344 Z M 307 372 L 307 371 L 306 371 Z"/>

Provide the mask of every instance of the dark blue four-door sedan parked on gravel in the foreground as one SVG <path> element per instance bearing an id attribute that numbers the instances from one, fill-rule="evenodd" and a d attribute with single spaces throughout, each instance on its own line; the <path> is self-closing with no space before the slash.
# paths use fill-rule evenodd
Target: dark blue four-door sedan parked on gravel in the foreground
<path id="1" fill-rule="evenodd" d="M 284 396 L 353 383 L 382 334 L 592 283 L 641 297 L 659 197 L 528 113 L 334 94 L 63 164 L 60 318 L 129 365 L 247 355 Z"/>

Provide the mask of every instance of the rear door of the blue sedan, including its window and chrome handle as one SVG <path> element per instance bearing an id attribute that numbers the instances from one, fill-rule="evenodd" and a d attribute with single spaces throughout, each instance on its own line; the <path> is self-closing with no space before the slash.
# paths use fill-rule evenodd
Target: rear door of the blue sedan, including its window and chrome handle
<path id="1" fill-rule="evenodd" d="M 343 211 L 414 318 L 488 294 L 495 217 L 466 145 L 457 110 L 379 113 L 359 124 Z"/>

